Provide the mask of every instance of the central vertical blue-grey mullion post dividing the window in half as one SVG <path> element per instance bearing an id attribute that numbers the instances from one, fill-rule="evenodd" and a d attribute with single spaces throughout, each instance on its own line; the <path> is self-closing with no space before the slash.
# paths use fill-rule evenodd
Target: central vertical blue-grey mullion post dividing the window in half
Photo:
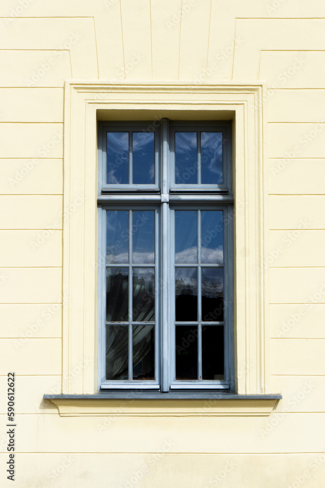
<path id="1" fill-rule="evenodd" d="M 168 187 L 168 152 L 169 152 L 169 141 L 168 141 L 168 120 L 162 120 L 162 194 L 166 195 L 169 192 Z M 163 202 L 162 207 L 162 234 L 161 234 L 161 298 L 164 304 L 161 307 L 161 338 L 162 338 L 162 368 L 161 368 L 161 391 L 169 391 L 170 378 L 169 378 L 169 276 L 170 276 L 170 265 L 169 265 L 169 203 Z"/>

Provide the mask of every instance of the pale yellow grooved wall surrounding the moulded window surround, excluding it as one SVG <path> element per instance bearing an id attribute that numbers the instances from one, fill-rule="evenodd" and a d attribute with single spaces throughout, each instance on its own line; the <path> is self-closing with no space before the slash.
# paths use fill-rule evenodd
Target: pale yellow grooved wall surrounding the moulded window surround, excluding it
<path id="1" fill-rule="evenodd" d="M 324 486 L 325 4 L 3 0 L 0 17 L 1 486 L 8 371 L 17 488 Z M 61 391 L 66 347 L 66 80 L 265 82 L 266 383 L 283 395 L 269 416 L 65 417 L 42 400 Z"/>

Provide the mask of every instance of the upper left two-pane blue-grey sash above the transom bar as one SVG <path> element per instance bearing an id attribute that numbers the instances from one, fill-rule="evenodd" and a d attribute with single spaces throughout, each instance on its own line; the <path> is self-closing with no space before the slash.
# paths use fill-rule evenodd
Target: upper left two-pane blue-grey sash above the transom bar
<path id="1" fill-rule="evenodd" d="M 99 122 L 98 148 L 99 195 L 159 191 L 159 126 L 154 128 L 152 122 Z"/>

